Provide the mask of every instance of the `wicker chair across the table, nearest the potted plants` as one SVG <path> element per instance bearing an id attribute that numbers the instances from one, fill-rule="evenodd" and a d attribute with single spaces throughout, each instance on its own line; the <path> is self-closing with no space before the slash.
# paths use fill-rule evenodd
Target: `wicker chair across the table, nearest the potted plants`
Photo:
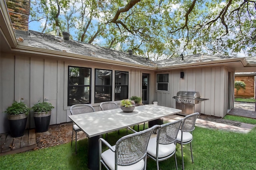
<path id="1" fill-rule="evenodd" d="M 71 115 L 78 115 L 82 113 L 90 113 L 94 112 L 94 108 L 88 104 L 75 104 L 70 107 L 70 113 Z M 72 141 L 73 141 L 73 131 L 76 132 L 76 146 L 77 146 L 77 132 L 81 131 L 81 129 L 77 125 L 73 125 L 73 130 L 72 130 L 72 139 L 71 139 L 71 146 L 72 146 Z M 76 149 L 77 153 L 77 149 Z"/>

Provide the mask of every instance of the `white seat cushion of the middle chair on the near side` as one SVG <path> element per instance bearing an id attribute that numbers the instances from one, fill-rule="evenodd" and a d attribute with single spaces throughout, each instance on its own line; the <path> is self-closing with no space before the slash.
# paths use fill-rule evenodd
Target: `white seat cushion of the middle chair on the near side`
<path id="1" fill-rule="evenodd" d="M 176 145 L 174 143 L 169 145 L 158 145 L 158 158 L 164 158 L 169 156 L 176 150 Z M 156 157 L 156 137 L 150 138 L 148 143 L 147 152 Z"/>

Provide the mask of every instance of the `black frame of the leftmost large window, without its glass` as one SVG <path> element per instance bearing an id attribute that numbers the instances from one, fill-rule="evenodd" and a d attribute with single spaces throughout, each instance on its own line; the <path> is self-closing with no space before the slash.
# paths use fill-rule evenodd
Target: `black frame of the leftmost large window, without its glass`
<path id="1" fill-rule="evenodd" d="M 69 82 L 70 82 L 70 72 L 69 72 L 69 69 L 70 67 L 74 67 L 74 68 L 84 68 L 84 69 L 89 69 L 90 70 L 90 84 L 89 85 L 70 85 Z M 67 106 L 72 106 L 69 102 L 69 90 L 70 90 L 70 87 L 89 87 L 89 102 L 88 103 L 76 103 L 76 104 L 91 104 L 92 103 L 92 68 L 89 68 L 89 67 L 82 67 L 82 66 L 71 66 L 71 65 L 68 65 L 68 88 L 67 88 Z M 73 104 L 74 105 L 74 104 Z"/>

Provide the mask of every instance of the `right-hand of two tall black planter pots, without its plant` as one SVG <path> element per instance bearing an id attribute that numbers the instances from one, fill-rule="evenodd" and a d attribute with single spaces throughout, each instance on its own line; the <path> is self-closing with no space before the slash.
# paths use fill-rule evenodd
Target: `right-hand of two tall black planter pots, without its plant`
<path id="1" fill-rule="evenodd" d="M 36 125 L 36 132 L 42 133 L 49 129 L 51 120 L 51 111 L 37 113 L 34 112 L 34 121 Z"/>

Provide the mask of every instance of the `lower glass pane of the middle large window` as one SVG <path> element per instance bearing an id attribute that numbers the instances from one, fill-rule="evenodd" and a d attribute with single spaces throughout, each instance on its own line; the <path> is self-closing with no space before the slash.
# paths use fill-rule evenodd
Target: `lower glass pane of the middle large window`
<path id="1" fill-rule="evenodd" d="M 111 86 L 95 87 L 95 101 L 94 103 L 111 101 Z"/>

